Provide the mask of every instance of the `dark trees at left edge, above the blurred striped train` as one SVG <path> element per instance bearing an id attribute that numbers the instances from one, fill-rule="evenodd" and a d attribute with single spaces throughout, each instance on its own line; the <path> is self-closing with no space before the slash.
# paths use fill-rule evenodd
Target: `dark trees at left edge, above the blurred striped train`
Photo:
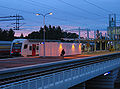
<path id="1" fill-rule="evenodd" d="M 0 40 L 1 41 L 12 41 L 14 39 L 14 34 L 15 32 L 12 29 L 2 30 L 0 28 Z"/>

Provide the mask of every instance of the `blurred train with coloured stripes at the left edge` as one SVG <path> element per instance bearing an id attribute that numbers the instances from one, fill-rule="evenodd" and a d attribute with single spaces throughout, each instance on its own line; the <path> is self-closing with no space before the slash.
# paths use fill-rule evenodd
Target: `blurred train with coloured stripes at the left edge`
<path id="1" fill-rule="evenodd" d="M 12 41 L 0 41 L 0 55 L 9 55 Z"/>

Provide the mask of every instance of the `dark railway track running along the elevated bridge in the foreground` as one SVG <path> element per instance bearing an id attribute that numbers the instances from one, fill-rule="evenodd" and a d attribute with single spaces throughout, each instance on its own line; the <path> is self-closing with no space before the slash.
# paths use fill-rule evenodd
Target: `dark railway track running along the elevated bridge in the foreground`
<path id="1" fill-rule="evenodd" d="M 107 55 L 107 56 L 90 57 L 90 58 L 85 58 L 85 59 L 81 59 L 81 60 L 77 59 L 74 61 L 69 60 L 68 62 L 66 61 L 64 63 L 56 62 L 56 63 L 49 64 L 49 65 L 43 65 L 43 66 L 39 66 L 35 69 L 33 68 L 33 69 L 27 70 L 28 73 L 26 73 L 26 74 L 21 74 L 21 75 L 18 75 L 18 76 L 16 75 L 16 76 L 10 77 L 10 78 L 0 79 L 0 85 L 5 85 L 5 84 L 12 83 L 12 82 L 26 80 L 26 79 L 31 79 L 31 78 L 35 78 L 38 76 L 43 76 L 43 75 L 52 74 L 52 73 L 56 73 L 56 72 L 67 71 L 69 69 L 83 67 L 86 65 L 89 66 L 94 63 L 113 60 L 118 57 L 120 57 L 120 55 L 114 54 L 114 55 Z M 46 70 L 44 70 L 44 69 L 46 69 Z M 35 70 L 35 71 L 33 71 L 33 70 Z M 22 70 L 22 71 L 25 71 L 25 70 Z M 33 72 L 29 73 L 29 71 L 33 71 Z"/>

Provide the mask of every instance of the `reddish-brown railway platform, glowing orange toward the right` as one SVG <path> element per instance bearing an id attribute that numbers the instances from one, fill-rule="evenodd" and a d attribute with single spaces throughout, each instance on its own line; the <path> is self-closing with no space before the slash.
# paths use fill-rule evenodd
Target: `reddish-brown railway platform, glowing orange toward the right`
<path id="1" fill-rule="evenodd" d="M 51 63 L 51 62 L 58 62 L 58 61 L 67 61 L 72 59 L 80 59 L 85 57 L 91 56 L 98 56 L 98 55 L 105 55 L 116 53 L 119 51 L 109 52 L 109 51 L 98 51 L 98 52 L 89 52 L 89 53 L 82 53 L 80 55 L 72 55 L 72 56 L 56 56 L 56 57 L 16 57 L 16 58 L 6 58 L 0 59 L 0 70 L 8 69 L 8 68 L 15 68 L 15 67 L 24 67 L 36 64 L 43 64 L 43 63 Z"/>

